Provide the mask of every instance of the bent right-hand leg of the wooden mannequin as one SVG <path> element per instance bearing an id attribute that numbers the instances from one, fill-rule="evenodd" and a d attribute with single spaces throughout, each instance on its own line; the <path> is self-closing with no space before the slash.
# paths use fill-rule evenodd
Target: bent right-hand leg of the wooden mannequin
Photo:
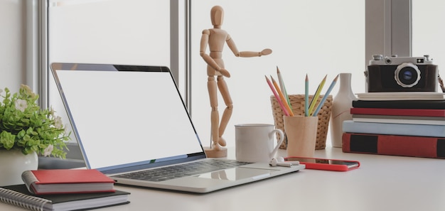
<path id="1" fill-rule="evenodd" d="M 230 93 L 229 93 L 227 84 L 226 84 L 223 76 L 218 76 L 218 89 L 220 90 L 221 95 L 223 96 L 223 99 L 224 99 L 224 103 L 226 105 L 224 112 L 223 112 L 223 117 L 221 117 L 220 128 L 218 130 L 218 133 L 219 133 L 218 143 L 221 146 L 225 146 L 226 142 L 223 139 L 223 134 L 224 134 L 225 128 L 227 127 L 227 124 L 230 120 L 230 117 L 232 117 L 233 104 L 232 104 L 232 98 L 230 97 Z"/>

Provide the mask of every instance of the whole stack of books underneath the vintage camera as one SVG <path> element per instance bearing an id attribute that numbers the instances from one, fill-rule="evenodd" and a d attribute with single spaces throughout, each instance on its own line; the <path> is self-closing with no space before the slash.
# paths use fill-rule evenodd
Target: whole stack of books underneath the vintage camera
<path id="1" fill-rule="evenodd" d="M 445 158 L 445 99 L 439 92 L 358 94 L 343 122 L 343 152 Z"/>

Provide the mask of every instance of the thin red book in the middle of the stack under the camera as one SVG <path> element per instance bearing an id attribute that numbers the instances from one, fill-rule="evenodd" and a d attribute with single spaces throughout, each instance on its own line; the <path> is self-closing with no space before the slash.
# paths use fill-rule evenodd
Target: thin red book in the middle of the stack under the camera
<path id="1" fill-rule="evenodd" d="M 445 117 L 445 109 L 377 109 L 351 108 L 350 114 L 372 114 L 412 117 Z"/>

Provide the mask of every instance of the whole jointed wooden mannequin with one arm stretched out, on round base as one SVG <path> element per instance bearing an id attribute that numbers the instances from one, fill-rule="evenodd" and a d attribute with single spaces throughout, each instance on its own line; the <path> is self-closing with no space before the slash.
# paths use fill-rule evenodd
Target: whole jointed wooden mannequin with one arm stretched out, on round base
<path id="1" fill-rule="evenodd" d="M 210 146 L 210 148 L 205 148 L 205 153 L 210 158 L 220 158 L 227 156 L 227 148 L 224 148 L 226 142 L 225 139 L 223 139 L 223 134 L 227 123 L 232 116 L 233 109 L 232 99 L 230 97 L 229 90 L 227 89 L 227 84 L 224 80 L 224 77 L 230 77 L 230 72 L 225 69 L 222 58 L 224 44 L 227 43 L 227 46 L 230 48 L 230 50 L 232 50 L 236 57 L 269 55 L 272 53 L 272 50 L 266 48 L 260 52 L 238 51 L 230 35 L 221 29 L 224 18 L 223 8 L 221 6 L 213 6 L 210 11 L 210 18 L 213 28 L 205 29 L 200 40 L 200 56 L 203 58 L 205 63 L 208 64 L 207 87 L 210 97 L 210 106 L 212 107 L 210 114 L 212 146 Z M 205 53 L 207 47 L 209 47 L 210 54 Z M 217 77 L 216 81 L 215 77 Z M 218 113 L 218 89 L 226 106 L 220 123 Z"/>

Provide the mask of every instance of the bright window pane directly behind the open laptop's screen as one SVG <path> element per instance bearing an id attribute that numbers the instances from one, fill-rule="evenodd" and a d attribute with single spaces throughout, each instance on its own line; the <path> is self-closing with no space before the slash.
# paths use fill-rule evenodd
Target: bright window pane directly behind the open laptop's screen
<path id="1" fill-rule="evenodd" d="M 170 1 L 164 0 L 51 0 L 49 63 L 169 66 L 169 18 Z M 49 105 L 68 124 L 53 76 L 48 75 Z"/>

